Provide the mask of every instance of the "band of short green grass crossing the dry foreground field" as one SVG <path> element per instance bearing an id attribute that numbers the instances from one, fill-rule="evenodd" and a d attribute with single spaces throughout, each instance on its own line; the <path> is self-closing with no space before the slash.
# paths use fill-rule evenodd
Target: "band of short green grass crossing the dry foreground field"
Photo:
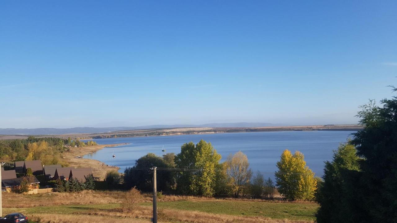
<path id="1" fill-rule="evenodd" d="M 151 206 L 152 203 L 142 203 Z M 92 204 L 92 205 L 63 205 L 35 208 L 4 208 L 3 213 L 22 212 L 32 213 L 59 213 L 59 214 L 84 214 L 92 209 L 110 210 L 119 207 L 119 204 Z M 202 211 L 240 216 L 262 216 L 273 219 L 314 220 L 318 208 L 314 203 L 276 203 L 260 201 L 236 200 L 207 200 L 207 201 L 173 201 L 158 202 L 158 208 L 179 209 L 187 211 Z"/>

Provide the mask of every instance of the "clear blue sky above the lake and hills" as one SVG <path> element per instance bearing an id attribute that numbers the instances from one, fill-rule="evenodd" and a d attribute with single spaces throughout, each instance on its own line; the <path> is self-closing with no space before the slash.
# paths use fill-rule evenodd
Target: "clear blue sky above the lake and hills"
<path id="1" fill-rule="evenodd" d="M 0 128 L 356 123 L 397 1 L 2 1 Z"/>

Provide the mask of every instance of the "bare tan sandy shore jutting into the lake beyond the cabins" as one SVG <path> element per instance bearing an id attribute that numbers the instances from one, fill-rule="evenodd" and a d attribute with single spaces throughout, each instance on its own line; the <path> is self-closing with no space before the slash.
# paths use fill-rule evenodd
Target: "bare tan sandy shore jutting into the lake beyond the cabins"
<path id="1" fill-rule="evenodd" d="M 71 148 L 69 152 L 64 152 L 64 160 L 70 164 L 70 167 L 76 168 L 91 168 L 93 170 L 94 177 L 99 177 L 100 180 L 104 180 L 106 173 L 112 170 L 119 170 L 119 167 L 106 166 L 106 163 L 102 163 L 99 160 L 91 160 L 86 158 L 77 158 L 78 156 L 84 156 L 93 153 L 97 150 L 102 150 L 105 147 L 113 147 L 119 145 L 125 145 L 126 143 L 120 144 L 104 144 L 97 146 L 86 146 Z M 101 165 L 104 164 L 104 165 Z"/>

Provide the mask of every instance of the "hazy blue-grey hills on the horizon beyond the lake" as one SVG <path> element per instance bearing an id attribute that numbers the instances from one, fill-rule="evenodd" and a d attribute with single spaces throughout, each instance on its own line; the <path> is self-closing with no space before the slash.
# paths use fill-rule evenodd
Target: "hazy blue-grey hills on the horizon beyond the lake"
<path id="1" fill-rule="evenodd" d="M 185 127 L 267 127 L 272 126 L 271 123 L 208 123 L 203 125 L 146 125 L 135 127 L 75 127 L 67 129 L 57 128 L 37 128 L 37 129 L 0 129 L 0 135 L 62 135 L 71 133 L 106 133 L 114 131 L 137 130 L 137 129 L 166 129 L 166 128 L 185 128 Z"/>

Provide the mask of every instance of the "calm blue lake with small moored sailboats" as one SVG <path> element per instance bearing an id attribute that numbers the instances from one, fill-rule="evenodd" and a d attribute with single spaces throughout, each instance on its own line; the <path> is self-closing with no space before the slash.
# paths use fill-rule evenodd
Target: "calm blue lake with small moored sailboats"
<path id="1" fill-rule="evenodd" d="M 332 160 L 333 150 L 337 149 L 339 143 L 353 138 L 351 134 L 354 132 L 285 131 L 103 138 L 95 139 L 95 141 L 98 144 L 129 144 L 104 148 L 87 154 L 84 158 L 118 166 L 122 172 L 125 167 L 132 167 L 135 160 L 149 152 L 161 156 L 164 147 L 167 153 L 178 154 L 182 144 L 190 141 L 197 144 L 198 141 L 204 139 L 211 142 L 216 151 L 222 155 L 221 161 L 225 161 L 229 154 L 241 150 L 247 155 L 253 171 L 271 172 L 265 173 L 265 177 L 273 176 L 272 173 L 277 170 L 276 162 L 279 161 L 285 149 L 302 152 L 308 167 L 316 173 L 316 176 L 322 176 L 324 161 Z M 113 151 L 116 158 L 112 158 Z"/>

